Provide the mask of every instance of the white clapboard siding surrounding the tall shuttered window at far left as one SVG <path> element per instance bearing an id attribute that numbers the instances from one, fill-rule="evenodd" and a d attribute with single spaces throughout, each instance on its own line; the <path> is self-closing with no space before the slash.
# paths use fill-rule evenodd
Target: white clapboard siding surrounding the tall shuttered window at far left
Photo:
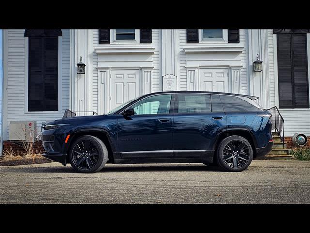
<path id="1" fill-rule="evenodd" d="M 62 118 L 66 108 L 69 108 L 69 70 L 70 70 L 70 33 L 62 30 L 62 112 L 61 113 L 25 113 L 25 56 L 26 45 L 24 29 L 7 30 L 7 86 L 5 95 L 7 104 L 7 131 L 4 140 L 9 140 L 10 121 L 36 121 L 37 132 L 41 123 Z"/>

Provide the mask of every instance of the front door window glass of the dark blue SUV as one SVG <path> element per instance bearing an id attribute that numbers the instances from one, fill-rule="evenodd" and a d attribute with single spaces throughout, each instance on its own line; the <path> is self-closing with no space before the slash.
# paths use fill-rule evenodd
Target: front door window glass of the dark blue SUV
<path id="1" fill-rule="evenodd" d="M 169 113 L 172 95 L 156 95 L 145 98 L 131 107 L 136 115 Z"/>

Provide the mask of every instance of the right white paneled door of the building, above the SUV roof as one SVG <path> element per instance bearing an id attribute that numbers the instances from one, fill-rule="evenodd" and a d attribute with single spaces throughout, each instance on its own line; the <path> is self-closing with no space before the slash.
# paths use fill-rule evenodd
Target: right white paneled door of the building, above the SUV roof
<path id="1" fill-rule="evenodd" d="M 200 91 L 229 92 L 228 69 L 200 69 Z"/>

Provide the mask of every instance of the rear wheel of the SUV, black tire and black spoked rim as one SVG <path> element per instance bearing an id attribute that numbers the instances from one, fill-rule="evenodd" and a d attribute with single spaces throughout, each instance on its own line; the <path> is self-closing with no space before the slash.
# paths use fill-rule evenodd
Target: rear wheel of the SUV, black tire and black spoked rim
<path id="1" fill-rule="evenodd" d="M 252 146 L 244 137 L 229 136 L 218 145 L 217 163 L 225 171 L 243 171 L 252 160 Z"/>

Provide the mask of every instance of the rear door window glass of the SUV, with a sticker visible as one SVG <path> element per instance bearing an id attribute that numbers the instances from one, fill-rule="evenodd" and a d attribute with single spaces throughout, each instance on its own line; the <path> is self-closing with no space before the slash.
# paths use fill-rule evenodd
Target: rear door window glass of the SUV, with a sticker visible
<path id="1" fill-rule="evenodd" d="M 179 113 L 210 113 L 211 98 L 204 94 L 179 94 Z"/>

